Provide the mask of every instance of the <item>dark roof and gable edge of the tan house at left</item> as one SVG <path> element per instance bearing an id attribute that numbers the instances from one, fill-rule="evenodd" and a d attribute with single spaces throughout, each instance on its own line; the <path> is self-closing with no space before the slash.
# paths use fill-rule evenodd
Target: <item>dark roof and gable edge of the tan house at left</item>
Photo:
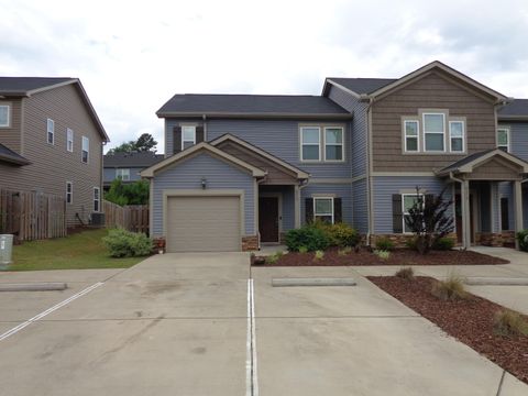
<path id="1" fill-rule="evenodd" d="M 73 84 L 77 88 L 82 102 L 88 109 L 88 113 L 91 116 L 94 123 L 96 124 L 99 134 L 105 142 L 109 142 L 105 128 L 102 127 L 99 117 L 96 113 L 96 109 L 90 102 L 88 95 L 80 84 L 78 78 L 73 77 L 0 77 L 0 98 L 1 97 L 14 97 L 23 98 L 31 97 L 34 94 L 38 94 L 45 90 L 58 88 L 65 85 Z"/>

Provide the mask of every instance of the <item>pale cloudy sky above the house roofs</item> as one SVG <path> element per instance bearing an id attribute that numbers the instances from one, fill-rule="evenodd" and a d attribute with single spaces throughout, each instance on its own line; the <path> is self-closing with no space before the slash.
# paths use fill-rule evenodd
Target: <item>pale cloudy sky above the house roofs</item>
<path id="1" fill-rule="evenodd" d="M 320 95 L 326 77 L 441 61 L 528 98 L 528 1 L 0 0 L 0 75 L 78 77 L 107 150 L 175 94 Z"/>

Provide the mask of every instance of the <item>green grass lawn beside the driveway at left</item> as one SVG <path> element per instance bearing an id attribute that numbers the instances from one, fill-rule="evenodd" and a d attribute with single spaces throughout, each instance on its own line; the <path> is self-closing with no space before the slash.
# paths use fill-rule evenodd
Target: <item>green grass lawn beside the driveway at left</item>
<path id="1" fill-rule="evenodd" d="M 8 271 L 128 268 L 145 257 L 112 258 L 101 238 L 106 229 L 87 230 L 66 238 L 24 242 L 13 246 Z"/>

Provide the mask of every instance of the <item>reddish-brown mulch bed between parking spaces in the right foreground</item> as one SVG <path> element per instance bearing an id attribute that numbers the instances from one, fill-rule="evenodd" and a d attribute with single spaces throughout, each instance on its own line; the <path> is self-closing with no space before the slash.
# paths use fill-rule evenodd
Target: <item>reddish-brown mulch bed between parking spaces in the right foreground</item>
<path id="1" fill-rule="evenodd" d="M 503 308 L 499 305 L 473 295 L 469 300 L 440 300 L 430 293 L 437 282 L 430 277 L 418 276 L 415 280 L 396 276 L 367 278 L 448 334 L 528 383 L 528 337 L 508 338 L 494 333 L 493 318 Z"/>

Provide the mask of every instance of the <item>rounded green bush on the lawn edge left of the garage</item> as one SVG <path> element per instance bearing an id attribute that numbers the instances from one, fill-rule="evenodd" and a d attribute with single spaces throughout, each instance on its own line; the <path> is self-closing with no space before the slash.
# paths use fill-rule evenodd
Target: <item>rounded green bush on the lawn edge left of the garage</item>
<path id="1" fill-rule="evenodd" d="M 144 233 L 130 232 L 124 229 L 110 230 L 102 239 L 105 245 L 110 250 L 112 257 L 134 257 L 151 254 L 152 240 Z"/>

